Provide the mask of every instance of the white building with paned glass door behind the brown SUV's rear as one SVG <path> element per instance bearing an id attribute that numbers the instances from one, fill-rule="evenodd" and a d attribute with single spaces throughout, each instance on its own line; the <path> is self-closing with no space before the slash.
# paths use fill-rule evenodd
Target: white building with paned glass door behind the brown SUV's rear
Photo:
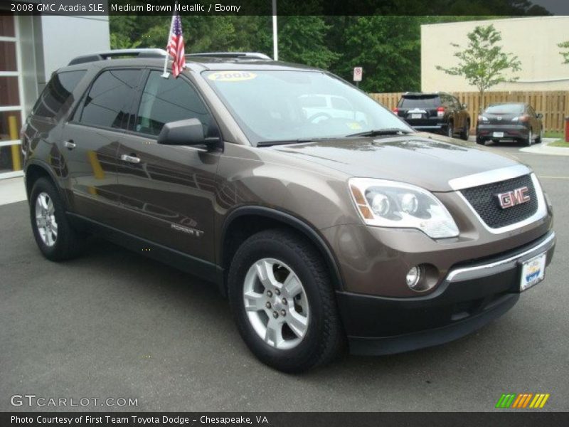
<path id="1" fill-rule="evenodd" d="M 51 73 L 110 49 L 108 16 L 14 16 L 8 7 L 0 4 L 0 179 L 22 173 L 21 125 Z"/>

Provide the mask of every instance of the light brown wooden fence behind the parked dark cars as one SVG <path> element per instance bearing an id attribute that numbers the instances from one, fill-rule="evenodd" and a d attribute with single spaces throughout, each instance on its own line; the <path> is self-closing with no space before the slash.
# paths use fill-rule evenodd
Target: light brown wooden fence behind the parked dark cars
<path id="1" fill-rule="evenodd" d="M 371 93 L 374 100 L 392 110 L 402 93 Z M 470 113 L 472 130 L 476 126 L 479 113 L 479 94 L 477 92 L 455 92 L 460 102 L 467 104 Z M 545 130 L 563 132 L 565 117 L 569 117 L 569 91 L 543 91 L 543 92 L 486 92 L 483 105 L 493 102 L 528 102 L 536 112 L 543 114 L 543 127 Z"/>

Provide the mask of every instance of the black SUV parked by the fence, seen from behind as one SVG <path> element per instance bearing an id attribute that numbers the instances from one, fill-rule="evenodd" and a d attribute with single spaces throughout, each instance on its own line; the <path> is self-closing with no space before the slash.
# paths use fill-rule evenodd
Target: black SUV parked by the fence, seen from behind
<path id="1" fill-rule="evenodd" d="M 393 112 L 416 130 L 467 140 L 471 121 L 466 108 L 466 104 L 461 104 L 450 93 L 408 92 L 403 94 Z"/>

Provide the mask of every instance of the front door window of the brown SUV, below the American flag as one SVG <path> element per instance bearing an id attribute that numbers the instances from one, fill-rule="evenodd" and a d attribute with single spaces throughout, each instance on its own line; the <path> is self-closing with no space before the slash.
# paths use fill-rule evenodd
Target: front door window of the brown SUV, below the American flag
<path id="1" fill-rule="evenodd" d="M 144 86 L 134 130 L 158 135 L 165 123 L 199 119 L 207 135 L 211 117 L 196 90 L 181 78 L 163 78 L 151 71 Z"/>

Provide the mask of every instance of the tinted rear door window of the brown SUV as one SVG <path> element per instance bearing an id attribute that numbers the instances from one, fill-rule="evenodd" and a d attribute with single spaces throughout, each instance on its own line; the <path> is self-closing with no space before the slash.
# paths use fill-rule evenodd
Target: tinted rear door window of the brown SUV
<path id="1" fill-rule="evenodd" d="M 85 125 L 126 127 L 140 70 L 107 70 L 91 86 L 79 121 Z"/>

